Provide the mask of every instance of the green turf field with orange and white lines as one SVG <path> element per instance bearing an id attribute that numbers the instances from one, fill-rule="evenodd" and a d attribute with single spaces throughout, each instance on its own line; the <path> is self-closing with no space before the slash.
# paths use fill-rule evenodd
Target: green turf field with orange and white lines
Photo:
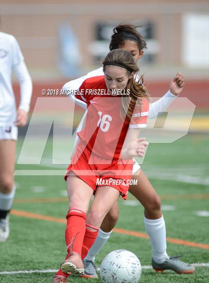
<path id="1" fill-rule="evenodd" d="M 154 270 L 147 268 L 142 270 L 141 283 L 209 282 L 208 143 L 206 135 L 190 134 L 172 144 L 151 144 L 142 166 L 162 197 L 169 238 L 168 254 L 182 254 L 182 260 L 196 264 L 208 263 L 208 267 L 197 267 L 194 275 L 178 275 L 170 271 L 155 274 Z M 21 144 L 20 139 L 17 155 Z M 44 159 L 51 157 L 51 149 L 52 141 L 49 139 L 42 165 L 16 166 L 17 190 L 13 214 L 10 216 L 10 237 L 7 242 L 0 244 L 0 272 L 37 270 L 46 273 L 0 273 L 1 283 L 50 283 L 54 272 L 50 273 L 49 270 L 58 269 L 65 257 L 65 224 L 57 222 L 64 219 L 68 208 L 63 177 L 61 174 L 31 176 L 29 172 L 28 176 L 18 176 L 18 170 L 65 169 L 66 166 L 44 165 Z M 119 206 L 120 217 L 116 228 L 145 233 L 143 207 L 131 195 L 128 195 L 127 201 L 120 199 Z M 37 219 L 40 217 L 37 214 L 54 218 Z M 184 242 L 181 245 L 174 244 L 173 239 Z M 139 257 L 142 266 L 150 266 L 152 255 L 148 239 L 113 232 L 96 258 L 98 267 L 107 253 L 117 249 L 132 251 Z M 69 282 L 101 281 L 70 278 Z"/>

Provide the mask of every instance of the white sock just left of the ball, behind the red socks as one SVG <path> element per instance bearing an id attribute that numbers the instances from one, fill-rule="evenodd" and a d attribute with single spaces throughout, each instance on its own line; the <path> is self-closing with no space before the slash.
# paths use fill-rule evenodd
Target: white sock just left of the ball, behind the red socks
<path id="1" fill-rule="evenodd" d="M 95 260 L 95 256 L 100 252 L 100 250 L 102 250 L 106 244 L 106 241 L 109 239 L 111 232 L 112 231 L 106 233 L 101 229 L 99 230 L 97 239 L 95 240 L 85 259 Z"/>

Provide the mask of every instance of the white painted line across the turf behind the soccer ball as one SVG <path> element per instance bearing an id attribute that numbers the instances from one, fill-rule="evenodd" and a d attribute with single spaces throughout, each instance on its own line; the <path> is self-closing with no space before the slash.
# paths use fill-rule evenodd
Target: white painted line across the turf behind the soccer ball
<path id="1" fill-rule="evenodd" d="M 209 263 L 195 263 L 195 267 L 209 267 Z M 142 266 L 142 269 L 152 269 L 149 265 Z M 100 269 L 97 269 L 100 271 Z M 19 271 L 1 271 L 0 275 L 11 275 L 11 274 L 30 274 L 30 273 L 56 273 L 57 269 L 47 269 L 47 270 L 19 270 Z"/>

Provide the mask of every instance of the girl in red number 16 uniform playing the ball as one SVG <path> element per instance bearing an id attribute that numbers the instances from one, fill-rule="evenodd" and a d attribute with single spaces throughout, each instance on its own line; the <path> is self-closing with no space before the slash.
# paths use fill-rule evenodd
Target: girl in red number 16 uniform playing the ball
<path id="1" fill-rule="evenodd" d="M 149 97 L 142 81 L 137 83 L 133 78 L 138 71 L 133 57 L 115 49 L 107 54 L 103 66 L 104 76 L 84 81 L 76 95 L 87 103 L 88 113 L 65 176 L 68 255 L 61 264 L 62 273 L 56 274 L 52 283 L 67 282 L 67 274 L 84 273 L 82 259 L 93 245 L 104 216 L 120 195 L 126 198 L 132 158 L 143 157 L 148 145 L 138 134 L 146 126 Z"/>

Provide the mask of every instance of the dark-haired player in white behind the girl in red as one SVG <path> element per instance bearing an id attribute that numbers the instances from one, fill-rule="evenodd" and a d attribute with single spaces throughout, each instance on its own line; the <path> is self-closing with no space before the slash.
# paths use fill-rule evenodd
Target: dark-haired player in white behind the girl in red
<path id="1" fill-rule="evenodd" d="M 144 41 L 142 35 L 136 30 L 135 26 L 130 24 L 121 24 L 113 29 L 113 34 L 109 45 L 110 50 L 116 48 L 122 48 L 126 51 L 129 51 L 137 63 L 138 60 L 143 56 L 143 49 L 146 48 L 146 42 Z M 104 75 L 103 69 L 99 68 L 88 73 L 86 76 L 66 83 L 63 89 L 66 91 L 66 93 L 73 93 L 73 91 L 77 91 L 80 88 L 86 79 L 102 75 Z M 138 79 L 139 78 L 136 75 L 135 80 Z M 174 101 L 174 99 L 181 93 L 184 84 L 183 76 L 181 73 L 177 73 L 170 83 L 170 90 L 162 98 L 150 105 L 148 118 L 155 118 L 159 112 L 165 111 L 172 101 Z M 78 105 L 86 109 L 86 103 L 76 99 L 74 95 L 69 95 L 69 98 L 73 99 Z M 85 115 L 80 123 L 78 131 L 81 130 L 81 125 L 84 119 Z M 195 267 L 178 260 L 179 257 L 169 257 L 167 255 L 166 227 L 161 211 L 161 200 L 138 164 L 135 164 L 134 166 L 133 179 L 137 180 L 137 185 L 130 186 L 129 192 L 133 194 L 144 206 L 144 224 L 146 232 L 150 238 L 153 253 L 153 268 L 157 272 L 169 269 L 177 273 L 194 273 Z M 87 257 L 84 259 L 85 274 L 82 277 L 98 278 L 97 268 L 95 265 L 95 256 L 104 247 L 104 244 L 108 240 L 112 229 L 116 225 L 117 219 L 118 205 L 116 202 L 105 216 L 100 227 L 98 237 L 92 248 L 89 250 Z M 63 276 L 61 270 L 58 271 L 57 275 Z"/>

